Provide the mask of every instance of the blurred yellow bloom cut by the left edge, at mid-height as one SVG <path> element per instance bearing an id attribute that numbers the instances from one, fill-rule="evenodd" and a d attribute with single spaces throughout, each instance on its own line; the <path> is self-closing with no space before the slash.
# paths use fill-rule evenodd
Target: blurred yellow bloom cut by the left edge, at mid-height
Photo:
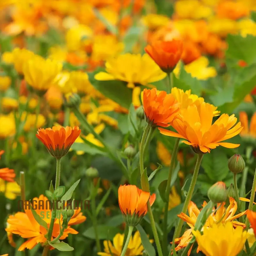
<path id="1" fill-rule="evenodd" d="M 6 138 L 13 136 L 16 133 L 15 118 L 14 114 L 10 113 L 8 115 L 0 114 L 0 138 Z"/>

